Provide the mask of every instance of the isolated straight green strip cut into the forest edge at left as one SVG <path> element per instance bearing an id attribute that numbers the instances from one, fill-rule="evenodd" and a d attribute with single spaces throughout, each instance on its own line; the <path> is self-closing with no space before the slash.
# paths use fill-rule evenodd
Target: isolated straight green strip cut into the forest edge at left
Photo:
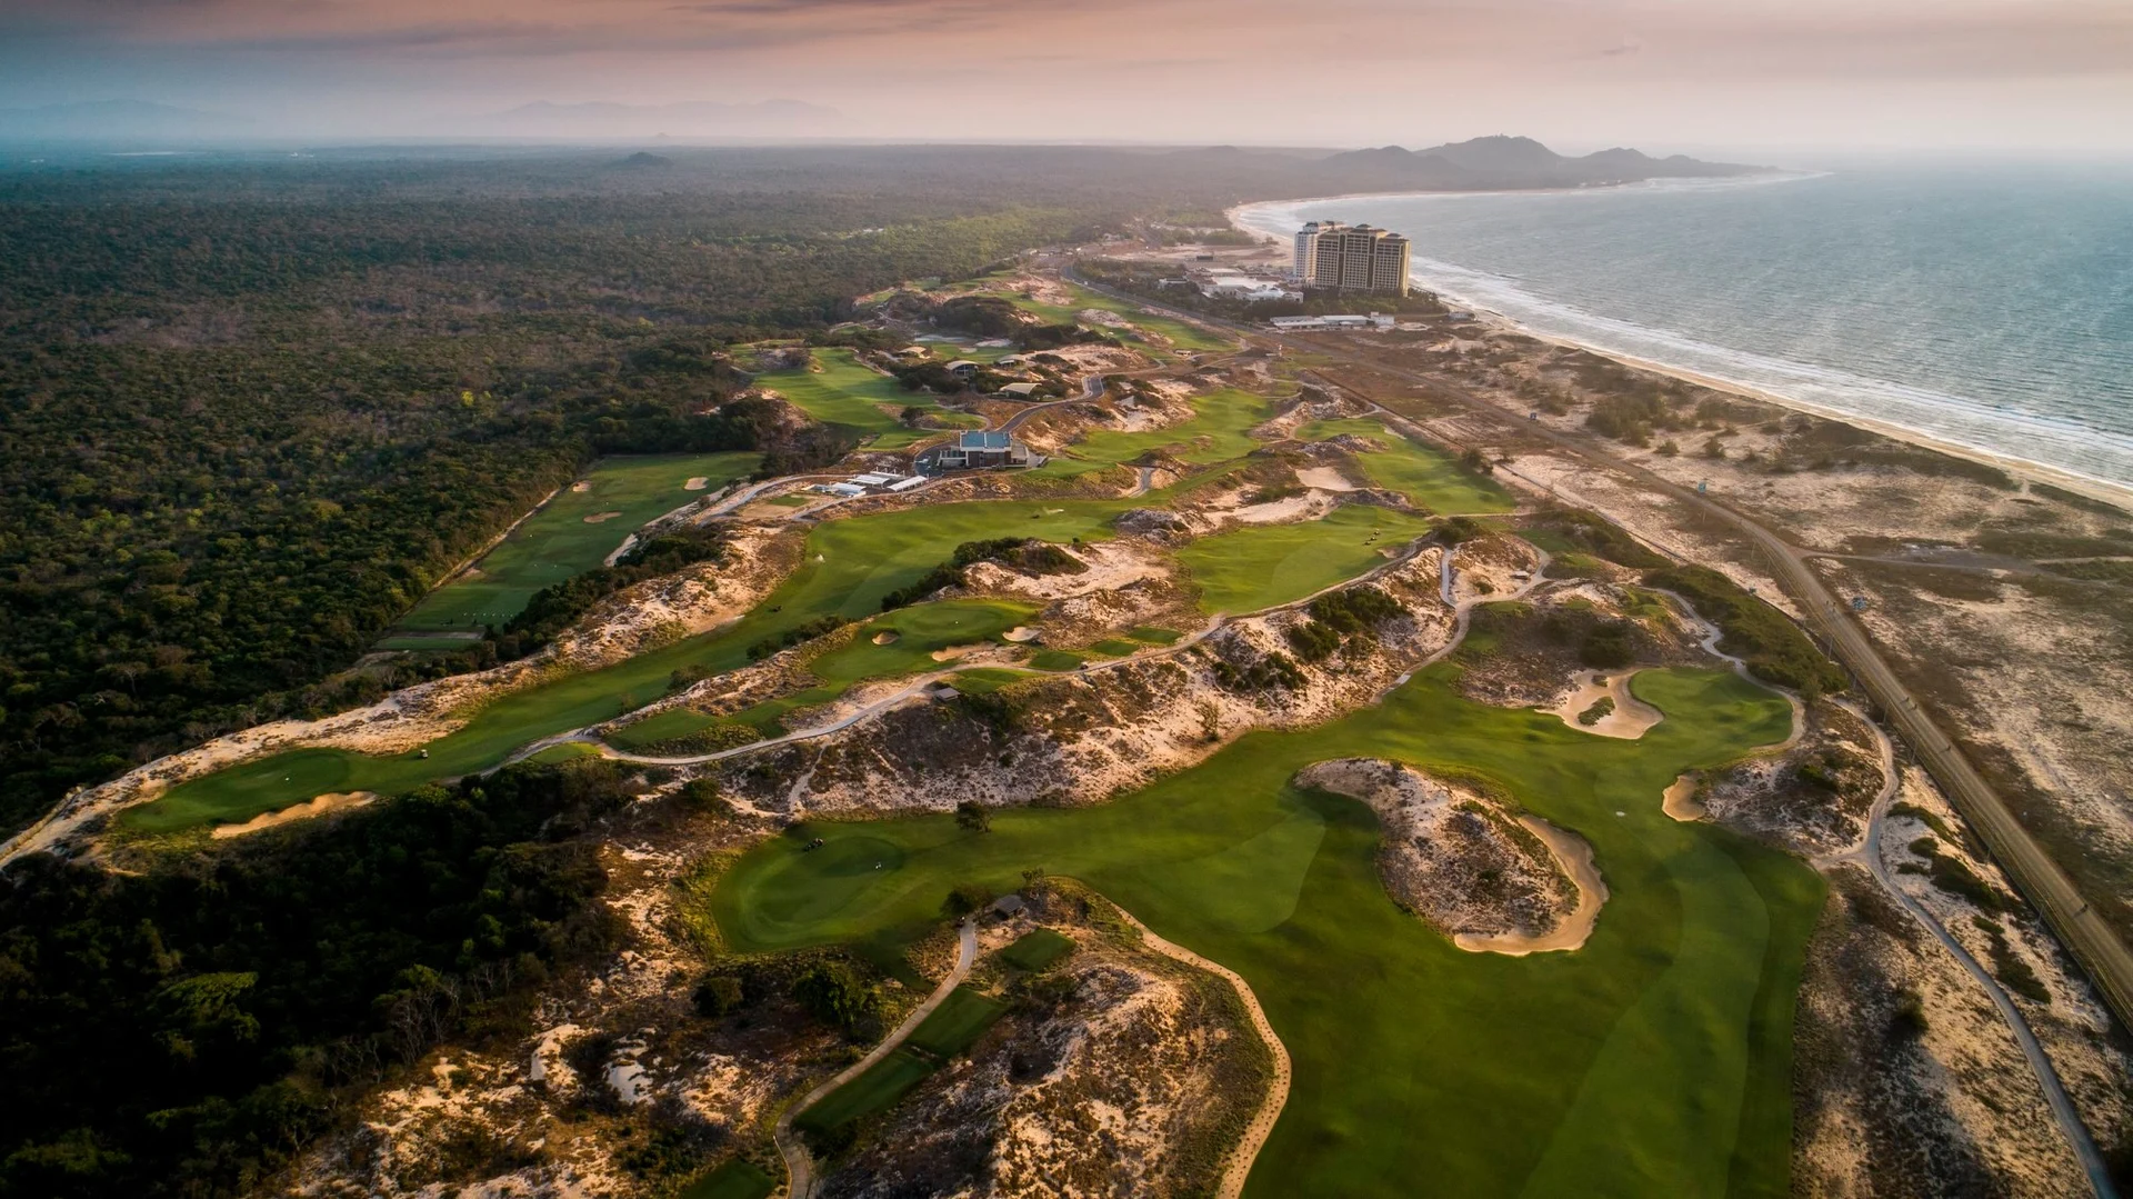
<path id="1" fill-rule="evenodd" d="M 501 625 L 542 587 L 593 570 L 646 521 L 742 478 L 759 461 L 759 454 L 602 459 L 582 480 L 589 484 L 587 491 L 572 486 L 559 491 L 488 550 L 476 570 L 424 595 L 414 612 L 395 625 L 395 634 Z M 704 484 L 691 491 L 687 484 L 695 478 Z M 403 649 L 405 640 L 392 636 L 380 644 Z M 454 646 L 437 642 L 412 649 Z"/>

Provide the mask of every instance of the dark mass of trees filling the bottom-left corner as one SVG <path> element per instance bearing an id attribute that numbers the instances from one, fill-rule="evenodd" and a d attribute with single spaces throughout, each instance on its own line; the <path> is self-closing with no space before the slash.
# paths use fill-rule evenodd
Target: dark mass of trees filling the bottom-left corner
<path id="1" fill-rule="evenodd" d="M 326 826 L 0 885 L 0 1195 L 241 1195 L 446 1039 L 529 1035 L 610 954 L 599 762 L 508 766 Z M 390 1075 L 388 1075 L 390 1077 Z"/>

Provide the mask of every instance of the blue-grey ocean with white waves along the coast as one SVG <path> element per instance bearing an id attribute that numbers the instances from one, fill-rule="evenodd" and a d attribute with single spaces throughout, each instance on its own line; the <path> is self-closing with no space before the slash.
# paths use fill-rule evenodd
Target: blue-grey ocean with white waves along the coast
<path id="1" fill-rule="evenodd" d="M 1414 241 L 1549 337 L 2133 486 L 2133 166 L 1858 169 L 1250 205 Z"/>

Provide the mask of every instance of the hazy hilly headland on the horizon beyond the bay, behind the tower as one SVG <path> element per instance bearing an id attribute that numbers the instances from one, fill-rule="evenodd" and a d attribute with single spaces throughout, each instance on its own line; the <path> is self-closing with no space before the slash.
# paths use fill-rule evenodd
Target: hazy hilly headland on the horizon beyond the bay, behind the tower
<path id="1" fill-rule="evenodd" d="M 1651 158 L 1638 149 L 1602 149 L 1583 158 L 1566 158 L 1529 137 L 1476 137 L 1427 149 L 1352 149 L 1322 158 L 1320 175 L 1329 186 L 1361 190 L 1376 186 L 1487 190 L 1487 188 L 1585 188 L 1593 183 L 1634 183 L 1640 179 L 1706 179 L 1753 175 L 1768 166 L 1734 162 L 1700 162 L 1674 154 Z"/>

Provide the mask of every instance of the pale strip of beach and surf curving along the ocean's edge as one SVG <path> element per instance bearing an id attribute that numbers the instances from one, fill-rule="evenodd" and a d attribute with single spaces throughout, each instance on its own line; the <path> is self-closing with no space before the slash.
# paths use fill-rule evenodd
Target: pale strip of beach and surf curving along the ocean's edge
<path id="1" fill-rule="evenodd" d="M 1813 175 L 1807 175 L 1807 173 L 1802 173 L 1802 175 L 1785 175 L 1785 181 L 1790 181 L 1790 179 L 1811 179 L 1811 177 L 1817 177 L 1817 175 L 1819 173 L 1813 173 Z M 1764 181 L 1773 181 L 1775 183 L 1779 179 L 1764 179 Z M 1348 194 L 1348 196 L 1312 196 L 1312 198 L 1301 198 L 1301 201 L 1246 201 L 1246 203 L 1239 203 L 1239 205 L 1231 205 L 1229 209 L 1222 211 L 1222 215 L 1229 218 L 1231 228 L 1237 228 L 1241 233 L 1250 233 L 1250 235 L 1256 235 L 1256 237 L 1276 237 L 1276 245 L 1280 245 L 1280 237 L 1278 235 L 1269 233 L 1267 228 L 1258 228 L 1258 226 L 1246 224 L 1244 213 L 1248 209 L 1271 209 L 1271 207 L 1282 207 L 1282 205 L 1308 205 L 1308 203 L 1320 203 L 1320 201 L 1433 198 L 1433 196 L 1487 196 L 1487 194 L 1531 196 L 1531 194 L 1574 194 L 1574 192 L 1591 192 L 1591 190 L 1600 190 L 1600 188 L 1553 188 L 1553 190 L 1529 190 L 1529 192 L 1357 192 L 1357 194 Z M 1429 288 L 1429 284 L 1425 279 L 1416 279 L 1416 284 Z M 1429 290 L 1436 290 L 1436 288 L 1429 288 Z M 1444 290 L 1436 290 L 1436 294 L 1459 299 L 1455 292 L 1444 292 Z M 1561 335 L 1555 335 L 1555 333 L 1540 333 L 1538 329 L 1527 326 L 1519 318 L 1508 316 L 1504 311 L 1497 311 L 1493 307 L 1474 305 L 1470 301 L 1461 301 L 1461 303 L 1465 303 L 1468 307 L 1472 307 L 1472 311 L 1474 311 L 1474 316 L 1476 316 L 1476 320 L 1480 324 L 1485 324 L 1485 326 L 1489 326 L 1493 331 L 1499 331 L 1499 333 L 1517 333 L 1521 337 L 1531 337 L 1531 339 L 1549 343 L 1549 346 L 1561 346 L 1561 348 L 1568 348 L 1568 350 L 1583 350 L 1587 354 L 1598 354 L 1602 358 L 1610 358 L 1615 363 L 1621 363 L 1625 367 L 1636 367 L 1640 371 L 1651 371 L 1651 373 L 1657 373 L 1657 375 L 1674 378 L 1674 380 L 1689 382 L 1689 384 L 1696 384 L 1696 386 L 1704 386 L 1704 388 L 1711 388 L 1711 390 L 1719 390 L 1719 393 L 1726 393 L 1726 395 L 1738 395 L 1741 399 L 1753 399 L 1753 401 L 1762 401 L 1762 403 L 1773 403 L 1777 407 L 1785 407 L 1785 410 L 1792 410 L 1792 412 L 1805 412 L 1809 416 L 1819 416 L 1824 420 L 1837 420 L 1837 422 L 1843 422 L 1843 425 L 1851 425 L 1856 429 L 1864 429 L 1869 433 L 1877 433 L 1881 437 L 1890 437 L 1894 442 L 1905 442 L 1905 444 L 1911 444 L 1911 446 L 1918 446 L 1918 448 L 1924 448 L 1924 450 L 1935 450 L 1939 454 L 1947 454 L 1947 457 L 1954 457 L 1954 459 L 1964 459 L 1964 461 L 1973 461 L 1973 463 L 1979 463 L 1979 465 L 1988 465 L 1988 467 L 2007 471 L 2009 476 L 2014 476 L 2024 486 L 2028 482 L 2041 482 L 2046 486 L 2056 486 L 2060 491 L 2071 491 L 2071 493 L 2082 495 L 2086 499 L 2097 499 L 2101 503 L 2112 503 L 2112 506 L 2118 506 L 2118 508 L 2124 508 L 2124 510 L 2133 512 L 2133 484 L 2127 484 L 2127 482 L 2112 482 L 2107 478 L 2097 478 L 2097 476 L 2082 474 L 2082 471 L 2075 471 L 2075 469 L 2056 467 L 2052 463 L 2039 463 L 2035 459 L 2024 459 L 2020 454 L 2009 454 L 2005 450 L 1992 450 L 1992 448 L 1986 448 L 1986 446 L 1971 446 L 1967 442 L 1956 442 L 1956 439 L 1950 439 L 1945 435 L 1932 433 L 1930 429 L 1915 429 L 1911 425 L 1901 425 L 1901 422 L 1894 422 L 1894 420 L 1881 420 L 1881 418 L 1875 418 L 1875 416 L 1862 416 L 1862 414 L 1856 414 L 1856 412 L 1843 412 L 1843 410 L 1830 407 L 1826 403 L 1815 403 L 1811 399 L 1790 397 L 1790 395 L 1775 393 L 1775 390 L 1768 390 L 1768 388 L 1762 388 L 1762 386 L 1755 386 L 1755 384 L 1745 384 L 1745 382 L 1738 382 L 1738 380 L 1728 380 L 1723 375 L 1711 375 L 1711 373 L 1698 371 L 1694 367 L 1677 367 L 1672 363 L 1662 363 L 1657 358 L 1645 358 L 1640 354 L 1627 354 L 1627 352 L 1621 352 L 1621 350 L 1608 350 L 1604 346 L 1595 346 L 1591 341 L 1581 341 L 1576 337 L 1561 337 Z"/>

